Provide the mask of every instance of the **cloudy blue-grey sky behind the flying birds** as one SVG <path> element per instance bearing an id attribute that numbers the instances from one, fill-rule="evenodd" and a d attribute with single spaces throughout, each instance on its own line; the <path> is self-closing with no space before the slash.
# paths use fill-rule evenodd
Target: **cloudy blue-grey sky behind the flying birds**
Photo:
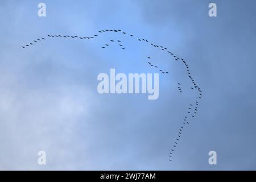
<path id="1" fill-rule="evenodd" d="M 38 16 L 41 2 L 46 17 Z M 210 2 L 217 5 L 217 17 L 208 15 Z M 2 0 L 0 169 L 255 170 L 255 5 L 253 0 Z M 134 37 L 100 35 L 105 29 Z M 42 37 L 46 40 L 21 47 Z M 137 38 L 182 57 L 203 90 L 172 162 L 169 152 L 197 96 L 182 63 Z M 101 48 L 111 39 L 126 49 Z M 147 56 L 170 74 L 152 69 Z M 99 94 L 97 76 L 111 68 L 159 73 L 159 98 Z M 182 94 L 177 82 L 184 85 Z M 38 151 L 46 152 L 46 165 L 38 164 Z M 209 151 L 217 152 L 216 165 L 208 163 Z"/>

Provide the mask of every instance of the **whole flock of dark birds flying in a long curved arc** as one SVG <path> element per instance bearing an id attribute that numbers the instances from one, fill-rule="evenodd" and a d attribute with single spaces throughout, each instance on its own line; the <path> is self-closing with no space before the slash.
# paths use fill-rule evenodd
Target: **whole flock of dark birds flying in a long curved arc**
<path id="1" fill-rule="evenodd" d="M 106 32 L 117 32 L 117 33 L 121 33 L 122 35 L 124 36 L 130 36 L 130 38 L 135 38 L 133 34 L 127 34 L 126 32 L 123 32 L 122 30 L 112 30 L 112 29 L 106 29 L 106 30 L 101 30 L 101 31 L 98 31 L 99 35 L 100 34 L 104 34 Z M 47 35 L 48 38 L 65 38 L 65 39 L 68 39 L 68 38 L 71 38 L 71 39 L 94 39 L 94 38 L 97 38 L 99 35 L 96 35 L 94 34 L 93 36 L 76 36 L 76 35 Z M 24 46 L 22 46 L 22 48 L 26 48 L 26 47 L 30 47 L 30 46 L 33 46 L 34 44 L 36 43 L 39 43 L 40 41 L 42 40 L 46 40 L 46 38 L 40 38 L 40 39 L 36 39 L 34 40 L 33 42 L 31 43 L 28 43 Z M 187 110 L 187 113 L 184 114 L 184 118 L 183 118 L 183 122 L 181 124 L 181 126 L 179 127 L 179 130 L 177 131 L 177 137 L 175 138 L 175 141 L 174 141 L 174 144 L 172 144 L 172 147 L 170 149 L 170 154 L 169 154 L 169 160 L 172 161 L 172 156 L 174 155 L 174 152 L 175 152 L 175 149 L 177 147 L 177 145 L 179 144 L 180 142 L 180 139 L 181 139 L 181 136 L 183 134 L 183 131 L 185 129 L 185 126 L 189 125 L 189 123 L 191 122 L 191 119 L 192 118 L 195 118 L 196 114 L 197 114 L 197 111 L 199 110 L 199 100 L 203 97 L 203 94 L 202 94 L 202 91 L 200 89 L 200 87 L 197 85 L 195 79 L 191 76 L 191 71 L 189 69 L 189 66 L 187 64 L 187 62 L 176 56 L 174 53 L 172 53 L 171 51 L 168 51 L 168 49 L 166 47 L 163 47 L 163 46 L 159 46 L 157 44 L 154 44 L 152 42 L 149 42 L 147 39 L 144 39 L 144 38 L 137 38 L 137 40 L 139 42 L 144 42 L 146 44 L 149 44 L 150 46 L 156 48 L 156 49 L 160 49 L 162 51 L 166 51 L 166 53 L 168 53 L 169 55 L 171 55 L 173 57 L 173 60 L 175 61 L 180 61 L 180 63 L 182 63 L 184 65 L 184 68 L 186 69 L 187 71 L 187 76 L 189 78 L 189 80 L 191 81 L 192 83 L 192 87 L 191 89 L 196 89 L 197 92 L 198 92 L 198 97 L 195 101 L 195 103 L 192 103 L 192 104 L 189 104 L 188 105 L 188 110 Z M 101 48 L 105 49 L 106 47 L 109 47 L 110 46 L 110 43 L 113 43 L 113 42 L 116 42 L 119 47 L 123 50 L 125 50 L 126 48 L 123 47 L 123 44 L 121 42 L 121 40 L 110 40 L 109 43 L 106 43 L 104 46 L 101 46 Z M 151 57 L 150 56 L 147 56 L 146 59 L 148 60 L 151 60 Z M 152 68 L 156 68 L 159 70 L 159 72 L 165 74 L 169 74 L 169 72 L 167 71 L 163 71 L 163 69 L 160 69 L 158 66 L 156 66 L 155 64 L 152 64 L 151 61 L 148 61 L 147 62 L 148 65 L 150 65 Z M 183 93 L 183 91 L 181 90 L 181 84 L 180 82 L 177 82 L 177 89 L 179 90 L 180 93 Z"/>

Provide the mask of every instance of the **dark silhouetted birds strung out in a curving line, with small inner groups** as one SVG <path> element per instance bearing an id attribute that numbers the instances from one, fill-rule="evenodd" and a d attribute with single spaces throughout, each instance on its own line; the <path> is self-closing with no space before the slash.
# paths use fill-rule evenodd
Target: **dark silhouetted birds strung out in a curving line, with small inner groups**
<path id="1" fill-rule="evenodd" d="M 112 30 L 112 29 L 106 29 L 106 30 L 101 30 L 101 31 L 98 31 L 100 34 L 102 34 L 102 33 L 104 33 L 104 32 L 121 32 L 123 35 L 129 35 L 130 37 L 133 37 L 134 35 L 133 34 L 127 34 L 126 32 L 123 32 L 122 30 L 119 30 L 119 29 L 117 29 L 117 30 Z M 48 37 L 51 37 L 51 38 L 55 38 L 55 37 L 57 37 L 57 38 L 59 38 L 59 37 L 61 37 L 61 38 L 73 38 L 73 39 L 75 39 L 75 38 L 78 38 L 78 39 L 94 39 L 94 38 L 97 38 L 98 37 L 98 35 L 96 35 L 96 34 L 94 34 L 93 36 L 86 36 L 86 37 L 84 37 L 84 36 L 70 36 L 70 35 L 47 35 Z M 42 38 L 42 39 L 37 39 L 38 41 L 41 41 L 41 40 L 46 40 L 46 38 Z M 37 40 L 34 40 L 34 43 L 38 43 L 38 41 Z M 158 45 L 156 45 L 156 44 L 154 44 L 154 43 L 152 43 L 152 42 L 149 42 L 147 39 L 144 39 L 144 38 L 138 38 L 138 41 L 139 42 L 145 42 L 145 43 L 148 43 L 148 44 L 150 44 L 150 46 L 152 46 L 152 47 L 155 47 L 155 48 L 159 48 L 159 49 L 161 49 L 162 51 L 167 51 L 167 53 L 168 54 L 170 54 L 172 57 L 173 57 L 173 59 L 174 60 L 176 60 L 176 61 L 181 61 L 181 63 L 183 63 L 184 64 L 184 66 L 185 66 L 185 69 L 187 70 L 187 75 L 188 75 L 188 77 L 189 77 L 189 79 L 191 80 L 191 82 L 192 82 L 192 87 L 191 87 L 191 89 L 197 89 L 197 91 L 199 92 L 199 99 L 201 99 L 202 98 L 202 91 L 201 91 L 201 89 L 199 88 L 199 86 L 196 84 L 196 82 L 195 82 L 195 79 L 191 76 L 191 71 L 189 70 L 189 66 L 188 66 L 188 64 L 185 62 L 185 60 L 184 59 L 182 59 L 182 58 L 180 58 L 180 57 L 177 57 L 174 53 L 172 53 L 171 51 L 168 51 L 168 49 L 166 48 L 166 47 L 163 47 L 163 46 L 158 46 Z M 114 40 L 110 40 L 110 42 L 114 42 Z M 120 40 L 118 40 L 117 42 L 121 42 Z M 26 47 L 29 47 L 30 45 L 34 45 L 34 43 L 30 43 L 30 44 L 26 44 L 25 46 Z M 102 46 L 102 48 L 106 48 L 106 46 L 109 46 L 110 44 L 105 44 L 105 46 Z M 25 46 L 22 46 L 22 48 L 25 48 Z M 122 47 L 123 45 L 120 43 L 119 44 L 119 46 L 120 47 Z M 124 47 L 122 47 L 122 49 L 125 49 Z M 147 57 L 148 59 L 151 59 L 151 57 Z M 154 65 L 154 64 L 152 64 L 151 62 L 148 62 L 148 64 L 150 64 L 150 66 L 152 67 L 152 68 L 158 68 L 156 65 Z M 169 72 L 164 72 L 164 71 L 162 71 L 162 69 L 159 69 L 159 71 L 160 72 L 162 72 L 162 73 L 169 73 Z M 180 93 L 183 93 L 182 92 L 182 90 L 181 90 L 181 84 L 178 82 L 177 83 L 178 84 L 178 86 L 177 86 L 177 88 L 179 89 L 179 92 Z M 192 118 L 194 118 L 195 117 L 195 114 L 197 114 L 197 111 L 198 111 L 198 106 L 199 106 L 199 101 L 196 101 L 196 106 L 194 107 L 194 111 L 191 111 L 192 110 L 192 104 L 190 104 L 189 105 L 189 107 L 188 107 L 188 111 L 187 111 L 187 114 L 189 114 L 189 116 L 191 116 Z M 173 146 L 172 146 L 172 148 L 171 148 L 171 152 L 170 152 L 170 155 L 169 155 L 169 157 L 170 157 L 170 161 L 172 161 L 172 155 L 173 155 L 173 153 L 174 153 L 174 151 L 175 151 L 175 148 L 177 147 L 177 144 L 178 144 L 178 142 L 180 142 L 180 138 L 181 138 L 181 134 L 182 134 L 182 131 L 183 131 L 183 129 L 184 129 L 184 126 L 185 125 L 188 125 L 189 124 L 189 121 L 188 121 L 188 115 L 187 114 L 185 114 L 185 116 L 184 116 L 184 119 L 183 119 L 183 125 L 182 126 L 180 126 L 179 127 L 179 130 L 178 130 L 178 134 L 177 134 L 177 137 L 176 137 L 176 139 L 175 139 L 175 142 L 174 142 L 174 144 L 173 144 Z M 193 114 L 193 115 L 192 115 Z"/>

